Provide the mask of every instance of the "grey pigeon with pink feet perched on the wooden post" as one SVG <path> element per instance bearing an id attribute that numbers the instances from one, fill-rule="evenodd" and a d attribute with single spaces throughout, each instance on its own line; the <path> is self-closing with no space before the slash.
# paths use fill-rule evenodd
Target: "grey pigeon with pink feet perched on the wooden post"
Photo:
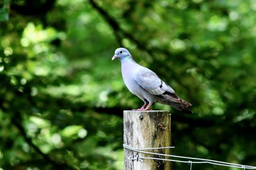
<path id="1" fill-rule="evenodd" d="M 121 61 L 122 76 L 126 87 L 144 102 L 144 105 L 136 110 L 150 110 L 153 102 L 159 102 L 187 114 L 193 113 L 188 109 L 191 106 L 189 102 L 176 95 L 174 89 L 163 82 L 153 71 L 134 61 L 127 49 L 117 48 L 112 61 L 115 59 Z"/>

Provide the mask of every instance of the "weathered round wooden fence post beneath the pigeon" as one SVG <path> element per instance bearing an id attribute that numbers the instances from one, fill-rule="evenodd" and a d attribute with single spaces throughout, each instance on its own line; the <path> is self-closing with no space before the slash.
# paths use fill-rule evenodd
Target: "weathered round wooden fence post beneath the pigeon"
<path id="1" fill-rule="evenodd" d="M 171 146 L 171 117 L 168 111 L 124 110 L 124 144 L 134 148 L 160 148 Z M 146 150 L 170 154 L 170 149 Z M 124 149 L 124 170 L 170 170 L 169 161 L 143 159 L 143 162 L 129 160 L 131 156 L 170 157 L 137 153 Z"/>

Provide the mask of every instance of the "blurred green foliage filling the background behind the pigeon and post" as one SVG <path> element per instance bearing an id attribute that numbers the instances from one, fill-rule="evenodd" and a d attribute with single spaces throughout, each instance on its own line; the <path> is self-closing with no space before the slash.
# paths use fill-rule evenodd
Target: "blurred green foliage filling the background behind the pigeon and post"
<path id="1" fill-rule="evenodd" d="M 256 165 L 255 4 L 4 0 L 0 170 L 123 169 L 122 110 L 143 102 L 111 61 L 120 46 L 192 103 L 153 106 L 171 109 L 174 154 Z"/>

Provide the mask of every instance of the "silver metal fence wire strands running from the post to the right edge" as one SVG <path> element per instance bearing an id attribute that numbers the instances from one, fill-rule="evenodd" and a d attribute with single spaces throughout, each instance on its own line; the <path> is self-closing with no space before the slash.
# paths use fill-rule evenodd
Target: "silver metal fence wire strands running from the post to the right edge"
<path id="1" fill-rule="evenodd" d="M 163 159 L 163 158 L 156 158 L 156 157 L 144 157 L 144 156 L 137 156 L 133 158 L 129 158 L 130 160 L 139 160 L 139 159 L 154 159 L 154 160 L 163 160 L 163 161 L 171 161 L 171 162 L 179 162 L 179 163 L 189 163 L 190 164 L 190 170 L 192 169 L 192 163 L 209 163 L 214 165 L 220 165 L 220 166 L 227 166 L 227 167 L 234 167 L 234 168 L 241 168 L 243 170 L 245 169 L 251 169 L 256 170 L 255 166 L 248 166 L 248 165 L 242 165 L 237 163 L 227 163 L 222 161 L 215 161 L 211 159 L 202 159 L 202 158 L 195 158 L 195 157 L 186 157 L 186 156 L 176 156 L 176 155 L 167 155 L 167 154 L 160 154 L 160 153 L 154 153 L 154 152 L 147 152 L 142 151 L 143 149 L 136 149 L 131 146 L 128 146 L 126 144 L 123 144 L 124 149 L 133 150 L 140 153 L 146 153 L 146 154 L 152 154 L 152 155 L 159 155 L 159 156 L 169 156 L 169 157 L 176 157 L 176 158 L 182 158 L 182 159 L 192 159 L 192 160 L 198 160 L 198 161 L 181 161 L 181 160 L 174 160 L 174 159 Z M 149 148 L 151 149 L 151 148 Z M 161 149 L 161 148 L 154 148 L 154 149 Z"/>

